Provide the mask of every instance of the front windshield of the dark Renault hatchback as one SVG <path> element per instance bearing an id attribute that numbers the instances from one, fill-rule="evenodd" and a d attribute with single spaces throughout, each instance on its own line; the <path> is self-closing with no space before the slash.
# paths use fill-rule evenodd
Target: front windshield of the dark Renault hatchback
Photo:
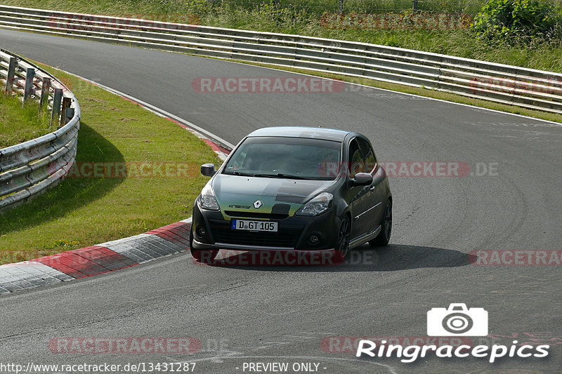
<path id="1" fill-rule="evenodd" d="M 230 157 L 223 173 L 263 178 L 334 180 L 341 142 L 312 138 L 252 137 Z"/>

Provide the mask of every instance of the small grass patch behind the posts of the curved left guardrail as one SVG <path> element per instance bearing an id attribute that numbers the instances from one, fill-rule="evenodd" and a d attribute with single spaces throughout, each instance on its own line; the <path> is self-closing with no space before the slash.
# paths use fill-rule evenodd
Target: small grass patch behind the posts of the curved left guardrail
<path id="1" fill-rule="evenodd" d="M 37 102 L 22 105 L 20 98 L 0 93 L 0 148 L 50 133 L 50 122 L 47 112 L 39 114 Z"/>

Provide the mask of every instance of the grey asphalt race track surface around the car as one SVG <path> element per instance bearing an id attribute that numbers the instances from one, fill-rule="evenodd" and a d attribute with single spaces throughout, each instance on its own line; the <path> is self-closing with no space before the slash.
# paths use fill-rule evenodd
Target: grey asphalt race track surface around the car
<path id="1" fill-rule="evenodd" d="M 320 373 L 561 373 L 561 265 L 477 266 L 467 254 L 561 249 L 562 126 L 347 84 L 337 93 L 197 93 L 199 77 L 295 74 L 77 39 L 0 30 L 0 47 L 228 142 L 263 126 L 345 128 L 367 135 L 381 161 L 462 162 L 472 173 L 391 178 L 391 245 L 354 251 L 345 265 L 210 267 L 183 253 L 3 296 L 1 362 L 187 361 L 197 363 L 195 373 L 249 373 L 244 362 L 320 363 Z M 489 363 L 430 354 L 402 363 L 358 359 L 336 343 L 344 339 L 322 345 L 328 337 L 426 337 L 426 312 L 452 302 L 488 310 L 490 335 L 474 344 L 547 344 L 549 356 Z M 48 346 L 92 337 L 193 337 L 202 349 L 55 354 Z"/>

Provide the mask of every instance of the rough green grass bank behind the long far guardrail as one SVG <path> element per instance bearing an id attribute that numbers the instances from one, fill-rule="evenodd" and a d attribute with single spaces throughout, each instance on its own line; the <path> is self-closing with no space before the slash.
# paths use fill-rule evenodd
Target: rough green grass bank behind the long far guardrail
<path id="1" fill-rule="evenodd" d="M 261 6 L 256 6 L 257 2 L 259 1 L 0 0 L 0 4 L 6 5 L 178 22 L 190 22 L 192 17 L 189 15 L 195 14 L 202 25 L 362 41 L 562 72 L 560 43 L 535 42 L 535 45 L 532 46 L 490 45 L 478 40 L 476 34 L 469 29 L 327 29 L 320 22 L 320 15 L 324 11 L 334 12 L 336 10 L 334 6 L 337 5 L 336 0 L 280 0 L 281 8 L 266 4 L 268 1 L 263 1 Z M 420 9 L 425 11 L 469 11 L 470 13 L 478 11 L 484 3 L 483 0 L 419 2 Z M 376 13 L 404 11 L 411 7 L 412 2 L 406 0 L 346 0 L 345 4 L 346 12 Z"/>

